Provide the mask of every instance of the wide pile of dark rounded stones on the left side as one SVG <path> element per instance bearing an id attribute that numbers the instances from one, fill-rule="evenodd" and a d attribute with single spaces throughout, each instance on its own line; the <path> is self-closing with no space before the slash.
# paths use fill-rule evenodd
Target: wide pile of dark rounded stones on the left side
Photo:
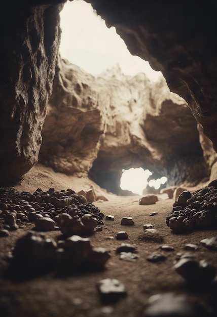
<path id="1" fill-rule="evenodd" d="M 60 229 L 64 235 L 88 235 L 103 224 L 103 218 L 96 206 L 70 188 L 60 191 L 38 188 L 33 194 L 25 191 L 19 194 L 13 188 L 0 189 L 2 230 L 14 230 L 33 222 L 38 231 Z"/>

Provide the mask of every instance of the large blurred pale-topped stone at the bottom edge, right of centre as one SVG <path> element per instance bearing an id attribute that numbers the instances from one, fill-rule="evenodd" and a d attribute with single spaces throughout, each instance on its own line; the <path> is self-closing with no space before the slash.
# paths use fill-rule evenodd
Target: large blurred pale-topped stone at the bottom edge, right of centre
<path id="1" fill-rule="evenodd" d="M 189 295 L 165 293 L 149 298 L 149 305 L 142 317 L 204 317 L 207 311 Z"/>

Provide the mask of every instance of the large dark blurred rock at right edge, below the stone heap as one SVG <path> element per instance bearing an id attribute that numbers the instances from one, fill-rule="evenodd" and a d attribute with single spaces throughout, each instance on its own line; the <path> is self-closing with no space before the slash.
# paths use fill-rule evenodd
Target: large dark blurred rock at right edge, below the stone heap
<path id="1" fill-rule="evenodd" d="M 216 268 L 205 260 L 198 262 L 192 258 L 182 258 L 174 265 L 174 268 L 191 284 L 210 284 L 216 275 Z"/>

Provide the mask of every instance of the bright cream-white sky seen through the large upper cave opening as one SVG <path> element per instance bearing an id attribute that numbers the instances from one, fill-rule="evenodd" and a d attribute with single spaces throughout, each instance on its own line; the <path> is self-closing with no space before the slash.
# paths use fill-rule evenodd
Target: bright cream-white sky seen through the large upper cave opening
<path id="1" fill-rule="evenodd" d="M 119 63 L 126 75 L 144 72 L 152 81 L 158 80 L 161 75 L 148 62 L 132 56 L 115 27 L 107 28 L 104 20 L 85 1 L 67 2 L 60 18 L 61 57 L 85 71 L 97 75 Z"/>

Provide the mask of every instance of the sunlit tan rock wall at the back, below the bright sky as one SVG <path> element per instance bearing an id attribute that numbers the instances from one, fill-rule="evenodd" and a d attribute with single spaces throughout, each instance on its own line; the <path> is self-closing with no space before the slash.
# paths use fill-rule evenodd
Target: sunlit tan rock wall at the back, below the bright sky
<path id="1" fill-rule="evenodd" d="M 164 78 L 126 76 L 120 65 L 94 77 L 60 56 L 42 137 L 43 164 L 89 175 L 116 193 L 122 169 L 148 168 L 153 178 L 167 176 L 169 185 L 195 184 L 213 161 L 203 153 L 186 101 Z"/>

